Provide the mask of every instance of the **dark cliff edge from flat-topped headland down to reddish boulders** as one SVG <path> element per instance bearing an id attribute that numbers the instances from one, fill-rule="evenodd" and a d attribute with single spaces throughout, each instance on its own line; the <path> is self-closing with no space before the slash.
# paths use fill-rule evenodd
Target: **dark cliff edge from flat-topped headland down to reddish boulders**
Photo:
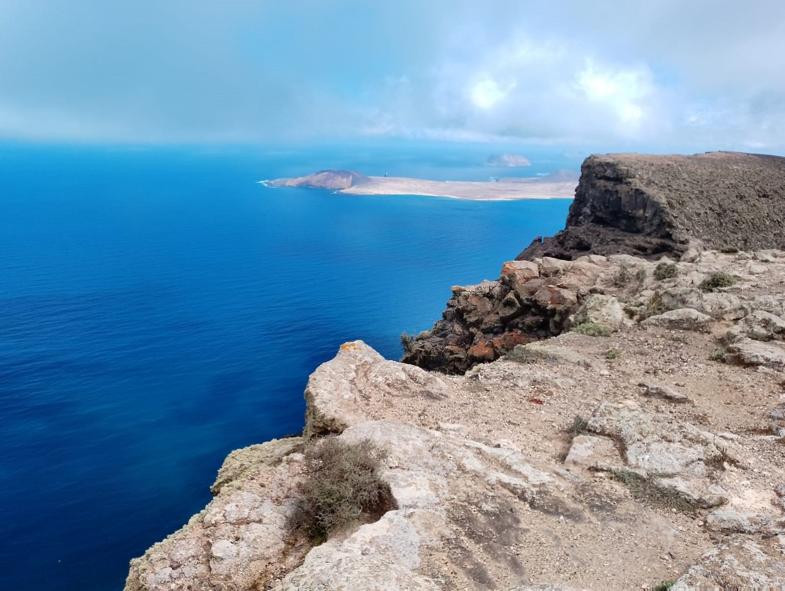
<path id="1" fill-rule="evenodd" d="M 442 320 L 407 343 L 403 361 L 465 372 L 559 334 L 590 293 L 623 291 L 633 281 L 634 271 L 620 267 L 611 284 L 597 285 L 598 255 L 688 260 L 707 247 L 785 248 L 785 158 L 590 156 L 566 229 L 535 240 L 497 281 L 453 288 Z"/>

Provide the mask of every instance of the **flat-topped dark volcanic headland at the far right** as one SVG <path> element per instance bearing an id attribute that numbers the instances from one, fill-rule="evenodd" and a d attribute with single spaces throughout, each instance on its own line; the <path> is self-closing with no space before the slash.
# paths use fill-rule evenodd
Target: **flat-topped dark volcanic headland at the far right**
<path id="1" fill-rule="evenodd" d="M 567 226 L 518 255 L 680 255 L 690 242 L 743 250 L 785 245 L 785 158 L 609 154 L 581 167 Z"/>

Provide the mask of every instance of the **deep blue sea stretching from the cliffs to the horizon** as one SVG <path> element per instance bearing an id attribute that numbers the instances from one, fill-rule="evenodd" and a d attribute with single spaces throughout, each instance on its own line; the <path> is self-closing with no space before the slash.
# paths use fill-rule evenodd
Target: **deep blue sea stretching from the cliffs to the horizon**
<path id="1" fill-rule="evenodd" d="M 3 589 L 121 589 L 229 450 L 301 430 L 340 343 L 399 357 L 451 285 L 497 277 L 569 204 L 255 181 L 498 174 L 483 150 L 0 146 Z M 578 165 L 528 156 L 524 174 Z"/>

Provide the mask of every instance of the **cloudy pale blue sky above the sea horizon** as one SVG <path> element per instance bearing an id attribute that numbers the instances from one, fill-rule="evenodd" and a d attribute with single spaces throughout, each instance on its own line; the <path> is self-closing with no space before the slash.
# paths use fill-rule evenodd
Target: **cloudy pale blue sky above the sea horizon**
<path id="1" fill-rule="evenodd" d="M 785 153 L 782 0 L 0 0 L 0 139 Z"/>

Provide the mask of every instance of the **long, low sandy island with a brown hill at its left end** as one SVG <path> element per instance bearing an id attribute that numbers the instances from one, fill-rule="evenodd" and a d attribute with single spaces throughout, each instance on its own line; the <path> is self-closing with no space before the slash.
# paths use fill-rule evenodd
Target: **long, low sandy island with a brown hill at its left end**
<path id="1" fill-rule="evenodd" d="M 371 177 L 357 171 L 319 171 L 298 178 L 260 181 L 268 187 L 330 189 L 351 195 L 426 195 L 469 200 L 572 199 L 579 174 L 555 171 L 537 178 L 491 181 L 429 181 L 423 178 Z"/>

